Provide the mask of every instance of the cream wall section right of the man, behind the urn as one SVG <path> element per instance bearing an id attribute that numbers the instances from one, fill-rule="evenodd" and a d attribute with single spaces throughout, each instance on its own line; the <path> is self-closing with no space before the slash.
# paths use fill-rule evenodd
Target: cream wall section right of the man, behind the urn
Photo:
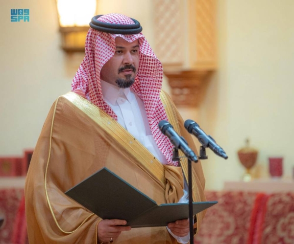
<path id="1" fill-rule="evenodd" d="M 285 177 L 294 167 L 294 1 L 219 0 L 219 71 L 199 109 L 199 123 L 229 155 L 205 163 L 207 188 L 238 180 L 236 155 L 246 137 L 256 147 L 259 174 L 268 157 L 284 156 Z"/>

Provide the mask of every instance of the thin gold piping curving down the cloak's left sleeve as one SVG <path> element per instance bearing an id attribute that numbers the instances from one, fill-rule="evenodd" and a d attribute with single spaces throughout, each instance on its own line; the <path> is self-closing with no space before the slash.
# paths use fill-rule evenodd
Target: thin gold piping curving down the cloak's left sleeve
<path id="1" fill-rule="evenodd" d="M 58 98 L 59 99 L 59 98 Z M 54 124 L 54 117 L 55 117 L 55 112 L 56 112 L 56 107 L 57 107 L 57 103 L 58 103 L 58 99 L 55 102 L 55 107 L 54 107 L 54 112 L 53 112 L 53 117 L 52 117 L 52 122 L 51 122 L 51 130 L 50 130 L 50 141 L 49 141 L 49 155 L 48 155 L 48 160 L 47 160 L 47 165 L 46 165 L 46 171 L 45 171 L 45 194 L 46 194 L 46 198 L 47 198 L 47 203 L 51 212 L 51 215 L 54 219 L 54 222 L 56 223 L 57 227 L 66 234 L 71 234 L 74 231 L 78 230 L 83 224 L 84 222 L 86 222 L 91 216 L 93 216 L 94 214 L 89 215 L 76 229 L 74 229 L 73 231 L 65 231 L 63 230 L 59 223 L 56 220 L 56 217 L 54 215 L 50 200 L 49 200 L 49 194 L 48 194 L 48 190 L 47 190 L 47 173 L 48 173 L 48 166 L 49 166 L 49 160 L 50 160 L 50 155 L 51 155 L 51 139 L 52 139 L 52 131 L 53 131 L 53 124 Z"/>

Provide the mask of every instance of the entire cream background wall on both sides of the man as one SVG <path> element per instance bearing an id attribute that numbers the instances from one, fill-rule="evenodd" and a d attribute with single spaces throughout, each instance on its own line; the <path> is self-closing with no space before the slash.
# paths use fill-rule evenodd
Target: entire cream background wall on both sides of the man
<path id="1" fill-rule="evenodd" d="M 1 0 L 0 155 L 21 155 L 34 147 L 49 108 L 70 90 L 83 55 L 60 50 L 54 0 Z M 11 8 L 29 8 L 29 23 L 10 22 Z M 151 44 L 152 6 L 146 0 L 99 0 L 101 14 L 120 12 L 138 19 Z M 203 162 L 208 189 L 243 173 L 236 151 L 250 137 L 260 151 L 260 174 L 267 158 L 285 157 L 285 176 L 294 167 L 294 1 L 218 0 L 219 70 L 193 113 L 229 155 L 209 152 Z M 166 84 L 164 85 L 167 89 Z"/>

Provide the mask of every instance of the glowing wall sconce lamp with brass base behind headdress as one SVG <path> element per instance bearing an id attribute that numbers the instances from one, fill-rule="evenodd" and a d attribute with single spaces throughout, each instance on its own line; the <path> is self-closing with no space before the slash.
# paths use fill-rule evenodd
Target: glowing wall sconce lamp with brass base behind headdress
<path id="1" fill-rule="evenodd" d="M 66 52 L 84 52 L 89 22 L 97 13 L 97 0 L 56 0 L 61 47 Z"/>

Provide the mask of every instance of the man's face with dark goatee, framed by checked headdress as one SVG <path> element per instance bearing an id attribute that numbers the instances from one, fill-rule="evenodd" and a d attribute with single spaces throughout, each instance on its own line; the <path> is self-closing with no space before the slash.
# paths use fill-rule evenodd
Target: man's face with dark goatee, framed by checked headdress
<path id="1" fill-rule="evenodd" d="M 115 45 L 115 54 L 101 68 L 100 78 L 120 88 L 128 88 L 134 84 L 138 72 L 139 41 L 129 43 L 117 37 Z"/>

